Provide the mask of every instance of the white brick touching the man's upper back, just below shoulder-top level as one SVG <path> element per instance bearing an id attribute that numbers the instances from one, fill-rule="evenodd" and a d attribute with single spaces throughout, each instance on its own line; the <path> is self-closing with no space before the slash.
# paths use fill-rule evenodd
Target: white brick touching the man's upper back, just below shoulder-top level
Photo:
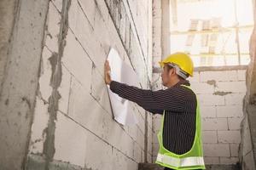
<path id="1" fill-rule="evenodd" d="M 212 94 L 198 94 L 200 105 L 224 105 L 224 97 Z"/>

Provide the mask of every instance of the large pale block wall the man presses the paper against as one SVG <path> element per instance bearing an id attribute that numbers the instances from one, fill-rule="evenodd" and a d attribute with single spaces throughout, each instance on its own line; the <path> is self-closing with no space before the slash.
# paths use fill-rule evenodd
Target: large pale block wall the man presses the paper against
<path id="1" fill-rule="evenodd" d="M 113 47 L 150 88 L 151 8 L 151 1 L 49 1 L 27 169 L 152 162 L 152 114 L 133 104 L 137 125 L 115 122 L 103 80 Z"/>

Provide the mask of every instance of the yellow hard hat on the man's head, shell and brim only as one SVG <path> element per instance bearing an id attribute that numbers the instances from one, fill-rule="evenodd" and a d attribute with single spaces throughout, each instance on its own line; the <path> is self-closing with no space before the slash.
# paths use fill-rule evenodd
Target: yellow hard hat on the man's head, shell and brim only
<path id="1" fill-rule="evenodd" d="M 178 52 L 167 56 L 166 59 L 159 62 L 161 67 L 167 63 L 177 65 L 181 70 L 188 73 L 190 77 L 193 77 L 194 64 L 188 54 Z"/>

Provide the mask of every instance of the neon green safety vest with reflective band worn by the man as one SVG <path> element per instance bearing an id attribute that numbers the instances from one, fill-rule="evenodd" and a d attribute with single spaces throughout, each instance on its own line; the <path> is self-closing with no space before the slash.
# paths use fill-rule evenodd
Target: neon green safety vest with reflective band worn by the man
<path id="1" fill-rule="evenodd" d="M 189 88 L 188 86 L 182 85 L 185 88 Z M 197 100 L 197 99 L 196 99 Z M 195 127 L 195 139 L 192 145 L 192 148 L 182 154 L 177 155 L 166 148 L 163 145 L 163 127 L 165 120 L 165 111 L 163 114 L 160 132 L 158 133 L 158 140 L 160 144 L 160 149 L 158 152 L 158 156 L 156 158 L 155 163 L 160 164 L 163 167 L 170 167 L 172 169 L 206 169 L 204 158 L 203 158 L 203 149 L 202 149 L 202 141 L 201 141 L 201 115 L 200 109 L 198 105 L 196 106 L 196 127 Z"/>

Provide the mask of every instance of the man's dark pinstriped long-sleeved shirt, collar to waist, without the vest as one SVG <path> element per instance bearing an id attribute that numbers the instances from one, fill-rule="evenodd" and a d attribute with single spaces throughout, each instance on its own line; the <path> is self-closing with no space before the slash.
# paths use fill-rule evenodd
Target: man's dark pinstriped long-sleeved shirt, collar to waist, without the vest
<path id="1" fill-rule="evenodd" d="M 195 138 L 196 96 L 186 80 L 172 88 L 152 91 L 112 81 L 110 89 L 124 99 L 131 100 L 153 114 L 163 114 L 163 145 L 175 154 L 183 154 L 192 148 Z"/>

